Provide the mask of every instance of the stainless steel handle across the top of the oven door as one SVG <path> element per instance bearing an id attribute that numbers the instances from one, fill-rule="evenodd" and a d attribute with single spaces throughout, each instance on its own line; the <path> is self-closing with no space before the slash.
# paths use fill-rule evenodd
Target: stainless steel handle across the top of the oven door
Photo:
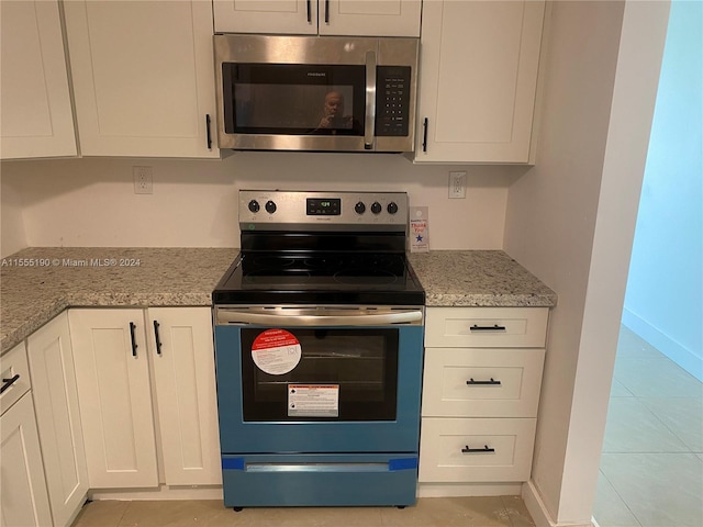
<path id="1" fill-rule="evenodd" d="M 358 315 L 276 315 L 272 313 L 247 313 L 242 311 L 217 311 L 217 324 L 259 324 L 263 326 L 383 326 L 422 322 L 422 311 Z"/>

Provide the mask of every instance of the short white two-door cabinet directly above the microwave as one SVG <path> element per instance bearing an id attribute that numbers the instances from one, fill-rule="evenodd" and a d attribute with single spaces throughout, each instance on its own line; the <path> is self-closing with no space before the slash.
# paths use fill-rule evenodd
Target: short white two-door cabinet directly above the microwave
<path id="1" fill-rule="evenodd" d="M 213 0 L 216 33 L 420 36 L 421 0 Z"/>

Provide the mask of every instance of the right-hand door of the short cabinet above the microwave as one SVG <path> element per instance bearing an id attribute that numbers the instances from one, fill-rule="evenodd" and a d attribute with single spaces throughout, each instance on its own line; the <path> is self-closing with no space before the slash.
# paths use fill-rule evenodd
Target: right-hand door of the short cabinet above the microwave
<path id="1" fill-rule="evenodd" d="M 321 35 L 420 36 L 421 0 L 320 0 Z"/>

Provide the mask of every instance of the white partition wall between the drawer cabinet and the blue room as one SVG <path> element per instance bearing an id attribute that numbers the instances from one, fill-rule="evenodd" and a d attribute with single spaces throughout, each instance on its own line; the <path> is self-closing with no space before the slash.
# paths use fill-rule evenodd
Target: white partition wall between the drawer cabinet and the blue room
<path id="1" fill-rule="evenodd" d="M 554 3 L 537 166 L 511 187 L 505 228 L 559 298 L 524 492 L 537 525 L 591 525 L 667 13 Z"/>

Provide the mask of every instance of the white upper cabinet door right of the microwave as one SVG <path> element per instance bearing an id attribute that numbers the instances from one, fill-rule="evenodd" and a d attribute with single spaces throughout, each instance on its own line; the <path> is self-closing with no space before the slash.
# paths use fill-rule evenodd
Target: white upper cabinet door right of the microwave
<path id="1" fill-rule="evenodd" d="M 544 10 L 424 2 L 415 162 L 529 160 Z"/>

